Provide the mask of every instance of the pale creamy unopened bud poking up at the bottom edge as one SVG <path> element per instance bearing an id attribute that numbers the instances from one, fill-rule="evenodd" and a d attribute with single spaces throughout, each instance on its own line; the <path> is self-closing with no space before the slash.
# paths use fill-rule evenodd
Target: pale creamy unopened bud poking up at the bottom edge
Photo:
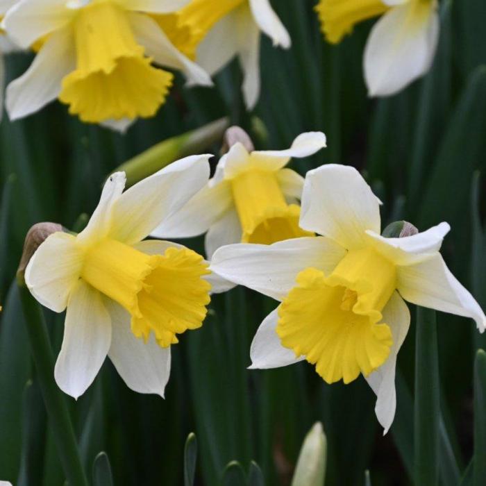
<path id="1" fill-rule="evenodd" d="M 316 422 L 305 436 L 292 486 L 324 486 L 326 456 L 326 435 L 321 422 Z"/>

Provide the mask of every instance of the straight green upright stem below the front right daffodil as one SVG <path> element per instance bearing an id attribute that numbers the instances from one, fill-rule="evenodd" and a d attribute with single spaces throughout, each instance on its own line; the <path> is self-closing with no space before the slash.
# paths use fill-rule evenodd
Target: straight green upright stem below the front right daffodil
<path id="1" fill-rule="evenodd" d="M 415 343 L 415 484 L 436 486 L 439 481 L 440 406 L 434 310 L 417 308 Z"/>

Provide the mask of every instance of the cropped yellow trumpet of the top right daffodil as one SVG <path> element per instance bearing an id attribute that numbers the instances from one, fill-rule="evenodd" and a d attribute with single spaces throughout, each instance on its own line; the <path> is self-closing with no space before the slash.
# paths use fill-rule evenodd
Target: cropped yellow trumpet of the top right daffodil
<path id="1" fill-rule="evenodd" d="M 380 0 L 321 0 L 316 6 L 322 31 L 333 44 L 340 42 L 358 22 L 381 15 L 388 8 Z"/>

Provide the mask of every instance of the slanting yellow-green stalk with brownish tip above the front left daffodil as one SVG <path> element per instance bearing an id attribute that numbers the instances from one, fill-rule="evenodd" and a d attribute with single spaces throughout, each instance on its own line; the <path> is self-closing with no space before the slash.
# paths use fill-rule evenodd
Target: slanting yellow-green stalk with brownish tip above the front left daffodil
<path id="1" fill-rule="evenodd" d="M 208 149 L 212 144 L 221 142 L 228 126 L 228 118 L 220 118 L 196 130 L 168 138 L 124 162 L 115 171 L 124 171 L 126 185 L 133 185 L 174 160 L 194 155 Z"/>

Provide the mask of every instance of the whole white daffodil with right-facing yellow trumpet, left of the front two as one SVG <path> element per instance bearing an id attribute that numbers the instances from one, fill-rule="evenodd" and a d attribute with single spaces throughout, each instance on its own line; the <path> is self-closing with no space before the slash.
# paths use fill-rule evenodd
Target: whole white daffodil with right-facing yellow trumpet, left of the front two
<path id="1" fill-rule="evenodd" d="M 163 396 L 171 344 L 206 316 L 210 272 L 184 246 L 142 240 L 206 184 L 208 157 L 174 162 L 126 192 L 124 172 L 113 174 L 85 230 L 53 233 L 35 251 L 26 285 L 47 308 L 67 308 L 54 372 L 65 393 L 83 394 L 108 355 L 128 387 Z"/>

